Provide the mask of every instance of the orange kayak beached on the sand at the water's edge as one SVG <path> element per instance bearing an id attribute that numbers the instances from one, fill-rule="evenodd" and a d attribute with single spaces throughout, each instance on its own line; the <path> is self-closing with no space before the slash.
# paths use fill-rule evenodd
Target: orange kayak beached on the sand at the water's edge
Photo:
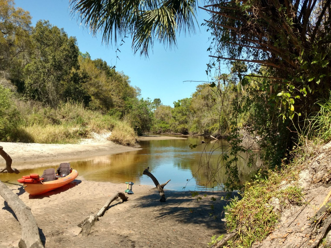
<path id="1" fill-rule="evenodd" d="M 25 191 L 30 195 L 39 195 L 51 191 L 53 189 L 57 189 L 59 187 L 62 187 L 63 185 L 72 182 L 78 176 L 78 172 L 77 170 L 72 169 L 71 173 L 68 176 L 61 177 L 49 182 L 42 182 L 38 179 L 33 179 L 34 178 L 33 175 L 35 174 L 30 174 L 30 175 L 32 178 L 23 180 L 23 178 L 26 177 L 23 176 L 23 178 L 19 179 L 18 181 L 23 183 L 23 187 Z"/>

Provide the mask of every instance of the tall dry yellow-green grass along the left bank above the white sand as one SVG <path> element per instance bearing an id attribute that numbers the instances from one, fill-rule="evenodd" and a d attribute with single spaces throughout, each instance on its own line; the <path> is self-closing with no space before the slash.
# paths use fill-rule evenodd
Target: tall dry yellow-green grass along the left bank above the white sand
<path id="1" fill-rule="evenodd" d="M 11 105 L 16 106 L 22 122 L 16 125 L 15 129 L 12 128 L 3 141 L 77 143 L 82 138 L 92 137 L 92 133 L 113 132 L 115 128 L 116 138 L 113 142 L 129 146 L 135 144 L 136 134 L 127 123 L 122 123 L 116 117 L 86 109 L 82 104 L 67 102 L 54 109 L 31 100 L 23 101 L 13 97 L 13 101 L 15 103 L 12 102 Z"/>

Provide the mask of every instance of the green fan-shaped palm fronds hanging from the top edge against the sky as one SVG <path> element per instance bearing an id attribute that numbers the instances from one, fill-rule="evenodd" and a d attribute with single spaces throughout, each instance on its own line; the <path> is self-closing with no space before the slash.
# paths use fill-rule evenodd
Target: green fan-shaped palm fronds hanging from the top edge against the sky
<path id="1" fill-rule="evenodd" d="M 131 36 L 133 52 L 145 56 L 155 40 L 171 48 L 197 24 L 196 0 L 70 0 L 70 7 L 93 35 L 115 45 Z"/>

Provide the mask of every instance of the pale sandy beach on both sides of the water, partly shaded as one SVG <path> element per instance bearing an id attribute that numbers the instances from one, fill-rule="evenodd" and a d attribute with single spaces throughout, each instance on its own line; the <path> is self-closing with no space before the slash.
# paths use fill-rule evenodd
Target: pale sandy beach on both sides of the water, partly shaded
<path id="1" fill-rule="evenodd" d="M 13 159 L 12 167 L 58 163 L 63 158 L 82 158 L 132 151 L 106 140 L 105 135 L 79 144 L 0 143 Z M 173 139 L 176 137 L 142 137 Z M 5 165 L 0 161 L 0 168 Z M 1 175 L 0 175 L 1 179 Z M 54 191 L 28 195 L 22 185 L 7 184 L 31 208 L 46 248 L 65 247 L 207 247 L 211 236 L 224 233 L 221 221 L 224 192 L 201 192 L 197 201 L 191 192 L 165 190 L 166 202 L 160 202 L 156 188 L 134 185 L 128 201 L 114 201 L 96 222 L 90 235 L 79 233 L 77 226 L 89 215 L 96 214 L 115 193 L 124 192 L 126 184 L 87 181 L 78 176 L 72 183 Z M 207 193 L 207 197 L 203 194 Z M 211 197 L 217 199 L 216 202 Z M 214 209 L 210 206 L 214 203 Z M 0 201 L 0 248 L 18 247 L 21 227 L 5 201 Z"/>

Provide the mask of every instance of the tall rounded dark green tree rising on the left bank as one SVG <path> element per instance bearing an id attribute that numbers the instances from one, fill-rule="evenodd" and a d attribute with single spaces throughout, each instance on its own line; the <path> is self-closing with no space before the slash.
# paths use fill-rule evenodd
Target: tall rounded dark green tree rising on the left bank
<path id="1" fill-rule="evenodd" d="M 60 101 L 62 84 L 78 69 L 75 37 L 48 21 L 38 21 L 32 31 L 31 62 L 24 69 L 26 93 L 33 99 L 55 106 Z"/>

